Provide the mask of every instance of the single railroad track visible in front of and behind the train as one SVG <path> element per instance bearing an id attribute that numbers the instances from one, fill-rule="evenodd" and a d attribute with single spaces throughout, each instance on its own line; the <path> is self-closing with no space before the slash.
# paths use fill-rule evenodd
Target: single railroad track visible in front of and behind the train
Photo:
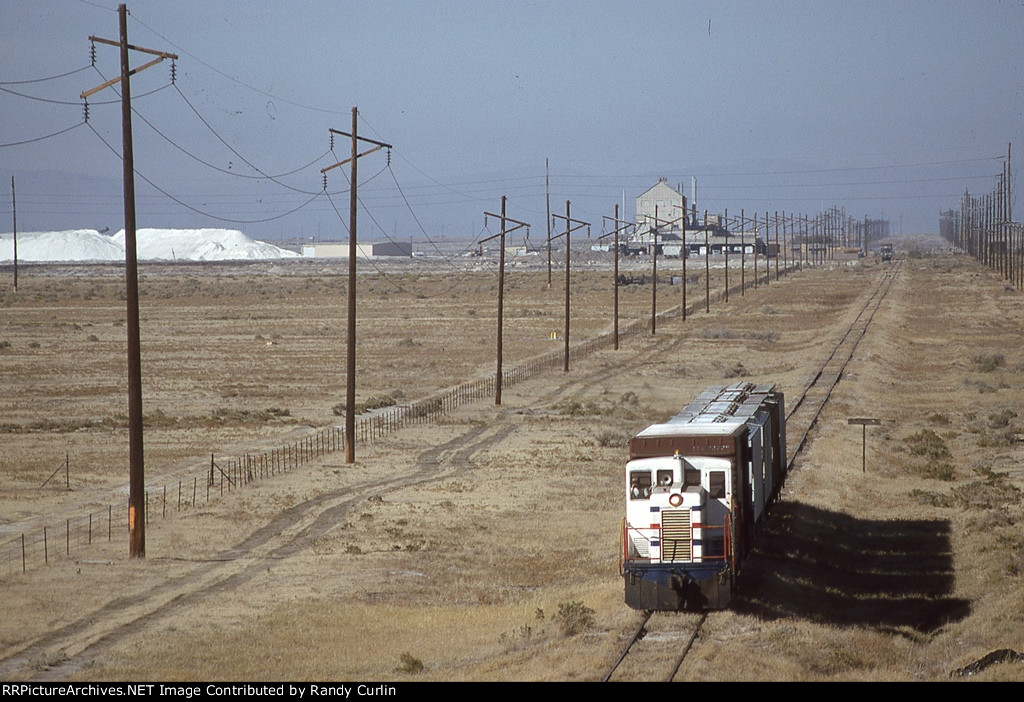
<path id="1" fill-rule="evenodd" d="M 857 311 L 856 317 L 848 326 L 846 326 L 840 336 L 839 341 L 837 341 L 835 346 L 833 346 L 818 370 L 811 377 L 811 380 L 804 387 L 800 397 L 790 407 L 788 413 L 786 414 L 786 431 L 790 433 L 792 428 L 795 427 L 800 433 L 800 439 L 796 442 L 796 444 L 792 445 L 791 454 L 788 456 L 788 460 L 786 462 L 786 475 L 788 475 L 788 472 L 793 470 L 797 457 L 806 447 L 811 430 L 814 429 L 817 424 L 818 416 L 821 414 L 822 409 L 824 409 L 825 404 L 828 402 L 828 398 L 831 397 L 831 393 L 839 384 L 840 379 L 842 379 L 843 372 L 846 370 L 847 365 L 849 365 L 850 360 L 853 358 L 854 353 L 857 350 L 857 346 L 859 346 L 860 341 L 867 333 L 867 327 L 874 318 L 874 314 L 882 306 L 882 302 L 889 295 L 889 291 L 892 288 L 896 276 L 899 274 L 901 266 L 902 260 L 898 260 L 886 269 L 878 284 L 871 290 L 870 295 Z M 644 649 L 641 656 L 645 661 L 654 657 L 657 657 L 658 660 L 665 660 L 667 658 L 664 652 L 657 654 L 656 652 L 647 650 L 655 648 L 656 645 L 646 646 L 645 648 L 645 644 L 641 643 L 649 641 L 650 639 L 648 635 L 650 633 L 648 630 L 648 624 L 654 614 L 676 615 L 676 613 L 673 612 L 644 612 L 643 618 L 639 626 L 637 626 L 636 631 L 623 648 L 618 658 L 615 659 L 615 662 L 605 673 L 602 682 L 609 682 L 611 676 L 620 670 L 623 663 L 629 658 L 630 654 L 637 653 L 640 649 Z M 688 633 L 687 631 L 682 632 L 683 635 L 687 637 L 686 644 L 678 650 L 678 652 L 673 652 L 675 653 L 672 657 L 674 664 L 672 665 L 671 672 L 665 678 L 665 682 L 667 683 L 672 682 L 676 677 L 676 674 L 679 672 L 679 668 L 683 664 L 683 660 L 686 658 L 687 654 L 692 649 L 694 642 L 699 637 L 700 630 L 708 619 L 709 613 L 703 612 L 684 616 L 696 617 L 696 619 L 689 623 Z M 680 639 L 681 637 L 678 635 L 678 633 L 675 637 L 662 637 L 663 641 L 669 642 L 669 646 L 678 645 Z"/>

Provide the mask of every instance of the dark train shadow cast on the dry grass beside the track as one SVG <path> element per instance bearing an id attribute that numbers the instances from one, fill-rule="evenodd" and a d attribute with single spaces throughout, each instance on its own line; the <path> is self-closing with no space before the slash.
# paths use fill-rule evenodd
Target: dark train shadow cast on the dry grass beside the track
<path id="1" fill-rule="evenodd" d="M 777 502 L 743 567 L 738 612 L 893 632 L 934 632 L 970 613 L 951 597 L 950 525 L 944 520 L 857 519 Z"/>

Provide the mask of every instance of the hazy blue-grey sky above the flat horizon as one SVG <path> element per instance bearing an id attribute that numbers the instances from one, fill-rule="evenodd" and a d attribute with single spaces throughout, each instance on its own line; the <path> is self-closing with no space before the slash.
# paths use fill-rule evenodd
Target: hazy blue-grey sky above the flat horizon
<path id="1" fill-rule="evenodd" d="M 90 97 L 87 124 L 79 98 L 119 72 L 103 44 L 90 67 L 88 39 L 118 38 L 116 9 L 0 0 L 0 230 L 11 176 L 19 231 L 123 226 L 119 94 Z M 344 238 L 348 167 L 327 192 L 319 170 L 347 157 L 329 129 L 353 105 L 394 145 L 359 161 L 365 240 L 476 235 L 503 194 L 543 238 L 545 159 L 552 211 L 571 201 L 594 235 L 659 176 L 687 196 L 696 177 L 700 210 L 837 206 L 935 231 L 965 189 L 994 188 L 1008 143 L 1024 159 L 1020 0 L 128 9 L 130 43 L 179 55 L 174 85 L 170 61 L 132 78 L 139 227 Z"/>

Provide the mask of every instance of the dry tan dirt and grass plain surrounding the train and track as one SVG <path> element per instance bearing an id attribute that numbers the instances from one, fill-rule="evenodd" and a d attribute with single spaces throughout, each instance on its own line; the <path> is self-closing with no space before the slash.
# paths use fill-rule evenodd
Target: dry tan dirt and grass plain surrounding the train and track
<path id="1" fill-rule="evenodd" d="M 123 531 L 70 557 L 57 537 L 48 565 L 3 564 L 0 677 L 599 679 L 638 621 L 616 570 L 626 439 L 709 385 L 778 383 L 795 398 L 882 271 L 862 259 L 795 272 L 506 389 L 501 407 L 360 445 L 354 466 L 336 453 L 170 510 L 141 561 Z M 340 420 L 337 266 L 142 273 L 147 484 Z M 120 271 L 30 268 L 19 283 L 4 281 L 0 307 L 0 540 L 105 509 L 127 482 Z M 360 400 L 493 372 L 496 283 L 415 262 L 360 279 Z M 509 274 L 507 365 L 561 343 L 560 274 L 546 283 L 543 268 Z M 572 284 L 572 339 L 607 331 L 609 271 Z M 659 310 L 679 296 L 659 289 Z M 624 320 L 649 315 L 650 288 L 623 290 L 622 305 Z M 976 263 L 905 261 L 735 606 L 709 617 L 677 679 L 936 681 L 1024 650 L 1022 330 L 1021 294 Z M 866 473 L 850 416 L 883 421 Z M 72 489 L 41 488 L 66 453 Z M 663 615 L 651 637 L 691 627 Z"/>

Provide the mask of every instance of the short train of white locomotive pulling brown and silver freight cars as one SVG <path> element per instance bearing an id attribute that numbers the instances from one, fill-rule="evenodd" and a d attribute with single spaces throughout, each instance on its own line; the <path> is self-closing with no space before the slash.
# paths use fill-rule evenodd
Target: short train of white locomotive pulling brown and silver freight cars
<path id="1" fill-rule="evenodd" d="M 774 385 L 713 387 L 630 440 L 621 572 L 639 610 L 728 606 L 785 478 Z"/>

